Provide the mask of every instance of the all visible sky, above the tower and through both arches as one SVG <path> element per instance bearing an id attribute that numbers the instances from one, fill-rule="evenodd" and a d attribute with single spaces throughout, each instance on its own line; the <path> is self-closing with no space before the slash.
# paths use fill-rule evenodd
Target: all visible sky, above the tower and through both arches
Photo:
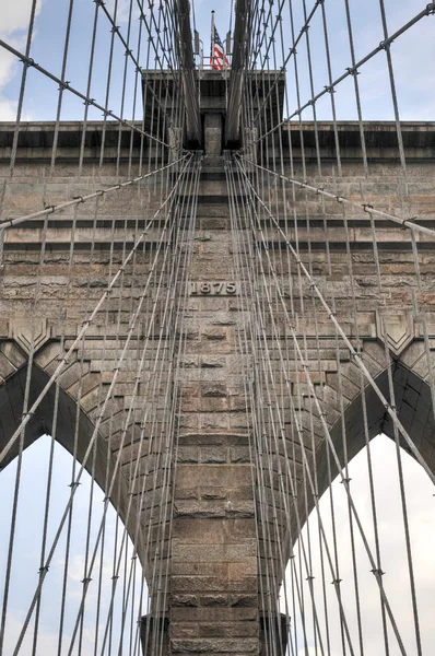
<path id="1" fill-rule="evenodd" d="M 0 20 L 0 39 L 11 44 L 20 51 L 24 51 L 26 44 L 26 34 L 28 25 L 28 15 L 32 0 L 0 0 L 1 8 Z M 56 75 L 60 75 L 62 67 L 62 52 L 64 48 L 64 34 L 67 15 L 69 8 L 68 0 L 38 0 L 36 5 L 35 31 L 32 39 L 31 57 L 43 67 Z M 308 9 L 313 3 L 307 2 Z M 427 4 L 427 0 L 386 0 L 386 11 L 390 33 L 398 30 L 407 23 L 412 16 L 419 13 Z M 295 5 L 295 32 L 296 34 L 303 25 L 302 0 Z M 114 10 L 114 0 L 107 2 L 110 11 Z M 124 35 L 128 31 L 128 7 L 129 0 L 120 0 L 118 5 L 117 25 Z M 223 0 L 219 3 L 209 0 L 196 0 L 192 3 L 195 8 L 196 26 L 204 43 L 204 51 L 210 47 L 210 12 L 215 10 L 215 23 L 222 40 L 225 39 L 226 32 L 231 23 L 231 2 Z M 349 50 L 349 38 L 346 32 L 346 22 L 344 14 L 343 0 L 326 0 L 325 2 L 328 25 L 329 43 L 331 49 L 332 77 L 336 79 L 351 66 Z M 355 57 L 360 59 L 380 40 L 383 32 L 379 21 L 379 0 L 351 0 L 350 1 L 353 27 Z M 71 40 L 69 44 L 69 55 L 67 59 L 66 79 L 72 86 L 85 92 L 87 84 L 87 70 L 90 61 L 90 44 L 92 37 L 92 25 L 95 4 L 92 0 L 74 0 L 72 14 Z M 131 31 L 131 49 L 138 56 L 142 68 L 153 68 L 154 61 L 146 62 L 146 48 L 144 42 L 141 42 L 141 51 L 138 54 L 138 25 L 136 16 Z M 434 120 L 435 119 L 435 16 L 423 19 L 418 25 L 412 27 L 407 34 L 400 36 L 391 47 L 392 62 L 395 69 L 395 79 L 399 101 L 400 116 L 404 120 Z M 283 19 L 284 34 L 284 55 L 290 45 L 290 22 L 289 16 Z M 326 68 L 322 24 L 320 15 L 316 15 L 310 28 L 311 40 L 311 65 L 314 77 L 314 89 L 321 91 L 328 84 L 328 74 Z M 94 74 L 91 84 L 91 97 L 94 97 L 99 104 L 106 104 L 107 73 L 109 66 L 109 44 L 110 44 L 110 24 L 106 17 L 102 16 L 97 27 L 97 39 L 95 48 Z M 137 90 L 134 97 L 136 73 L 131 62 L 128 63 L 128 74 L 126 78 L 126 95 L 122 104 L 122 80 L 125 56 L 124 48 L 119 42 L 115 40 L 114 63 L 111 68 L 111 83 L 108 95 L 108 107 L 115 113 L 127 118 L 141 118 L 140 91 Z M 281 54 L 277 61 L 280 66 Z M 309 75 L 307 55 L 305 44 L 298 47 L 298 72 L 299 72 L 299 94 L 301 102 L 304 104 L 310 97 Z M 273 62 L 270 63 L 272 66 Z M 287 114 L 292 114 L 297 108 L 296 87 L 294 72 L 291 65 L 287 67 L 287 93 L 289 105 Z M 0 120 L 15 120 L 20 84 L 22 79 L 22 63 L 14 56 L 7 52 L 0 46 Z M 384 52 L 377 55 L 371 62 L 366 63 L 358 75 L 358 84 L 362 97 L 363 118 L 367 120 L 387 120 L 393 118 L 391 106 L 391 94 L 389 89 L 389 78 L 387 62 Z M 52 81 L 47 80 L 39 72 L 30 69 L 24 93 L 23 120 L 54 120 L 58 105 L 58 87 Z M 344 82 L 337 89 L 336 102 L 338 107 L 338 118 L 355 119 L 355 98 L 352 81 Z M 83 118 L 83 103 L 75 98 L 69 92 L 63 95 L 61 107 L 62 120 L 80 120 Z M 318 104 L 318 118 L 330 119 L 329 98 Z M 91 119 L 101 119 L 102 115 L 95 109 L 90 109 Z M 313 118 L 311 110 L 306 110 L 303 118 Z M 25 454 L 25 476 L 34 476 L 36 471 L 40 480 L 44 480 L 44 471 L 47 466 L 47 445 L 49 438 L 44 437 L 36 443 L 32 449 Z M 386 437 L 378 437 L 373 443 L 375 454 L 375 464 L 377 468 L 377 490 L 379 499 L 379 516 L 383 536 L 384 561 L 386 564 L 385 585 L 392 599 L 395 612 L 399 619 L 400 630 L 403 640 L 409 648 L 409 654 L 415 653 L 413 643 L 412 620 L 409 607 L 409 581 L 407 578 L 407 569 L 403 567 L 403 527 L 400 520 L 400 508 L 393 507 L 393 500 L 397 499 L 397 472 L 393 466 L 395 461 L 393 445 Z M 435 585 L 435 559 L 434 559 L 434 522 L 433 522 L 433 489 L 424 472 L 419 466 L 409 458 L 405 459 L 407 475 L 407 494 L 410 505 L 412 546 L 415 557 L 415 575 L 419 587 L 420 608 L 422 610 L 421 625 L 426 654 L 431 654 L 435 642 L 435 631 L 433 622 L 433 590 Z M 59 512 L 68 495 L 67 473 L 70 471 L 70 456 L 63 452 L 62 447 L 56 448 L 58 480 L 55 483 L 56 499 L 58 504 L 54 507 L 51 518 L 51 531 L 55 530 L 56 520 L 59 518 Z M 386 466 L 388 464 L 388 466 Z M 8 526 L 10 522 L 10 502 L 11 490 L 13 485 L 14 468 L 13 465 L 0 472 L 0 525 Z M 369 505 L 367 495 L 367 476 L 365 470 L 364 453 L 360 454 L 351 464 L 351 477 L 353 479 L 352 489 L 355 497 L 358 500 L 358 509 L 364 518 L 366 526 L 371 525 Z M 67 618 L 66 635 L 71 632 L 71 622 L 74 612 L 77 612 L 80 600 L 81 578 L 83 576 L 83 540 L 85 536 L 85 526 L 83 524 L 83 512 L 86 507 L 86 494 L 89 493 L 89 481 L 83 484 L 78 493 L 77 504 L 74 506 L 75 538 L 73 541 L 73 551 L 71 554 L 72 566 L 68 579 L 68 599 L 70 602 L 70 614 Z M 87 487 L 86 487 L 87 485 Z M 27 602 L 31 598 L 34 586 L 37 582 L 37 570 L 39 566 L 38 554 L 40 550 L 40 538 L 38 530 L 40 528 L 43 495 L 44 490 L 36 480 L 34 487 L 26 488 L 27 496 L 22 499 L 22 512 L 20 515 L 20 526 L 16 537 L 17 555 L 13 567 L 13 583 L 15 593 L 11 597 L 11 612 L 8 623 L 5 654 L 12 653 L 12 645 L 22 624 Z M 99 494 L 99 493 L 98 493 Z M 95 504 L 101 512 L 102 494 L 96 494 Z M 353 618 L 352 631 L 355 635 L 354 626 L 354 602 L 353 591 L 349 587 L 352 578 L 352 563 L 349 559 L 349 529 L 346 520 L 346 504 L 343 499 L 343 490 L 339 483 L 334 484 L 334 495 L 337 496 L 338 525 L 343 527 L 339 536 L 339 549 L 343 557 L 342 578 L 343 578 L 343 598 L 350 617 Z M 322 501 L 325 504 L 326 501 Z M 82 504 L 82 505 L 81 505 Z M 97 512 L 97 511 L 95 511 Z M 110 511 L 108 518 L 108 531 L 115 535 L 115 513 Z M 313 534 L 316 532 L 315 518 L 313 518 Z M 35 535 L 35 540 L 28 540 L 25 536 Z M 0 535 L 0 561 L 4 561 L 8 548 L 7 531 Z M 369 630 L 366 632 L 367 656 L 378 656 L 383 652 L 380 647 L 380 629 L 378 623 L 379 612 L 377 607 L 376 590 L 374 591 L 373 575 L 369 574 L 367 563 L 363 553 L 361 542 L 357 543 L 357 558 L 361 562 L 361 572 L 366 572 L 361 576 L 363 621 Z M 107 562 L 104 565 L 106 578 L 110 582 L 110 553 L 107 554 Z M 42 623 L 40 642 L 38 654 L 55 653 L 58 631 L 58 610 L 59 610 L 59 577 L 63 572 L 64 563 L 64 541 L 59 544 L 50 576 L 47 578 L 47 591 L 44 601 L 44 620 Z M 318 570 L 318 563 L 315 563 Z M 50 583 L 54 582 L 54 583 Z M 0 585 L 2 583 L 0 581 Z M 107 584 L 109 585 L 109 583 Z M 332 586 L 331 586 L 332 587 Z M 2 589 L 2 588 L 0 588 Z M 106 588 L 109 589 L 109 588 Z M 331 595 L 332 595 L 331 590 Z M 92 593 L 94 594 L 94 593 Z M 56 600 L 52 604 L 52 600 Z M 47 602 L 51 601 L 51 604 Z M 332 651 L 330 656 L 341 655 L 339 647 L 339 631 L 336 601 L 329 598 L 330 612 L 336 622 L 332 633 Z M 334 614 L 336 613 L 336 614 Z M 92 628 L 95 624 L 95 617 L 89 617 L 89 626 L 86 626 L 83 656 L 91 654 L 93 640 Z M 299 618 L 296 618 L 298 632 L 301 633 Z M 28 641 L 30 639 L 26 639 Z M 391 643 L 392 644 L 392 643 Z M 23 647 L 23 654 L 27 656 L 31 647 L 26 642 Z M 396 649 L 396 651 L 395 651 Z M 305 651 L 297 656 L 314 656 L 314 647 L 307 654 Z M 390 656 L 397 656 L 397 647 L 392 646 Z"/>

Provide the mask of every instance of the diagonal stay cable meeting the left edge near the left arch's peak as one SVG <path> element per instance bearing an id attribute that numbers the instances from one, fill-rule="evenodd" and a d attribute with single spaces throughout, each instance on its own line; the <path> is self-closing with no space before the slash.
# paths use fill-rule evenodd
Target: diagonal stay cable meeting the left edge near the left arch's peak
<path id="1" fill-rule="evenodd" d="M 188 155 L 186 155 L 185 157 L 187 157 L 187 156 Z M 173 196 L 177 191 L 178 186 L 179 186 L 179 181 L 183 179 L 183 174 L 187 169 L 187 167 L 189 165 L 189 162 L 191 160 L 191 156 L 192 155 L 189 156 L 189 159 L 186 162 L 183 171 L 180 172 L 180 175 L 178 177 L 177 183 L 174 185 L 174 187 L 172 188 L 171 192 L 165 198 L 164 202 L 154 212 L 153 218 L 146 223 L 146 225 L 145 225 L 143 232 L 141 233 L 141 235 L 134 242 L 134 245 L 132 246 L 131 250 L 129 251 L 129 254 L 127 255 L 127 257 L 122 261 L 122 265 L 119 267 L 118 271 L 115 273 L 115 276 L 110 280 L 109 284 L 107 285 L 107 288 L 103 292 L 102 296 L 99 297 L 99 301 L 95 305 L 95 307 L 94 307 L 92 314 L 90 315 L 89 319 L 86 319 L 85 321 L 83 321 L 83 325 L 82 325 L 81 330 L 79 331 L 79 335 L 75 337 L 75 339 L 73 340 L 71 347 L 69 348 L 69 350 L 67 351 L 67 353 L 63 355 L 63 358 L 61 359 L 61 361 L 59 362 L 58 366 L 56 367 L 55 372 L 52 373 L 52 375 L 50 376 L 49 380 L 45 385 L 44 389 L 40 391 L 39 396 L 36 398 L 36 400 L 34 401 L 33 406 L 30 408 L 30 410 L 25 413 L 25 415 L 23 417 L 23 419 L 22 419 L 19 427 L 13 433 L 13 435 L 9 440 L 8 444 L 4 446 L 3 450 L 0 453 L 0 467 L 2 466 L 2 462 L 4 461 L 5 457 L 8 456 L 9 452 L 11 450 L 12 446 L 15 444 L 16 440 L 19 438 L 19 436 L 21 434 L 21 431 L 30 422 L 32 415 L 35 413 L 35 410 L 39 407 L 42 400 L 45 398 L 47 391 L 50 389 L 51 385 L 55 383 L 55 380 L 58 379 L 59 375 L 64 370 L 66 365 L 68 364 L 69 359 L 71 358 L 71 355 L 72 355 L 72 353 L 73 353 L 73 351 L 75 349 L 75 347 L 80 343 L 81 339 L 86 333 L 86 331 L 90 328 L 91 324 L 95 319 L 97 313 L 99 312 L 99 309 L 104 305 L 105 301 L 108 298 L 108 296 L 109 296 L 111 290 L 114 289 L 116 282 L 118 281 L 118 279 L 120 278 L 120 276 L 122 274 L 122 272 L 126 270 L 127 265 L 129 263 L 129 261 L 133 257 L 134 253 L 139 248 L 139 246 L 142 243 L 142 241 L 143 241 L 146 232 L 152 226 L 154 220 L 162 212 L 162 210 L 166 207 L 166 204 L 171 201 L 171 199 L 173 198 Z"/>

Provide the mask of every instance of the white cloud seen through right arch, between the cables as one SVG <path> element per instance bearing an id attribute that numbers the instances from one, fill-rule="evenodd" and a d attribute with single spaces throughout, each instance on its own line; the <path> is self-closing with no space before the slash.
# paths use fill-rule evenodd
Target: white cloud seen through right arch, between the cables
<path id="1" fill-rule="evenodd" d="M 361 452 L 361 454 L 358 454 L 358 456 L 356 456 L 350 464 L 350 477 L 352 479 L 351 491 L 353 499 L 355 500 L 358 516 L 364 527 L 367 540 L 373 552 L 375 552 L 371 496 L 367 484 L 367 462 L 364 450 Z M 385 436 L 380 436 L 372 443 L 371 450 L 375 473 L 376 506 L 383 559 L 381 566 L 385 572 L 383 582 L 392 609 L 392 613 L 399 628 L 399 632 L 404 642 L 405 648 L 408 649 L 407 653 L 413 654 L 415 652 L 415 632 L 410 594 L 407 550 L 404 546 L 402 508 L 398 485 L 396 447 L 392 441 Z M 430 653 L 430 645 L 432 645 L 435 640 L 435 631 L 433 625 L 435 554 L 434 550 L 431 548 L 435 538 L 435 530 L 433 526 L 433 489 L 431 481 L 425 476 L 421 467 L 404 453 L 402 453 L 402 464 L 407 487 L 407 504 L 410 520 L 412 555 L 414 562 L 415 586 L 418 591 L 418 606 L 423 648 L 426 648 L 427 653 Z M 336 481 L 332 484 L 332 490 L 334 497 L 340 578 L 342 581 L 340 586 L 341 598 L 352 636 L 352 643 L 356 648 L 358 643 L 356 623 L 357 617 L 349 531 L 348 503 L 343 487 L 339 481 Z M 325 495 L 320 501 L 320 512 L 322 524 L 328 536 L 328 543 L 333 557 L 334 550 L 331 535 L 328 495 Z M 318 529 L 315 514 L 313 514 L 310 517 L 309 526 L 311 539 L 310 549 L 313 553 L 313 574 L 315 576 L 315 600 L 319 613 L 318 617 L 321 626 L 321 634 L 325 640 L 321 564 L 319 560 L 319 547 L 317 538 Z M 383 654 L 384 639 L 380 619 L 379 593 L 375 577 L 371 572 L 372 566 L 368 563 L 368 559 L 362 540 L 358 537 L 356 527 L 354 527 L 354 534 L 365 652 L 367 654 Z M 305 544 L 307 544 L 306 528 L 304 529 L 303 535 L 305 536 Z M 296 570 L 297 566 L 298 565 L 296 565 Z M 313 649 L 314 644 L 313 617 L 310 612 L 309 591 L 305 582 L 306 573 L 304 570 L 305 567 L 303 565 L 302 582 L 299 585 L 303 585 L 304 587 L 308 637 L 307 654 L 308 656 L 311 656 L 310 649 Z M 331 648 L 340 653 L 340 616 L 338 611 L 337 598 L 334 596 L 334 589 L 330 585 L 331 574 L 327 563 L 325 563 L 325 573 Z M 287 590 L 291 590 L 291 576 L 289 570 Z M 283 609 L 282 601 L 281 608 Z M 301 654 L 298 654 L 298 656 L 307 656 L 307 654 L 305 654 L 304 649 L 301 647 L 301 645 L 303 645 L 303 632 L 301 618 L 298 617 L 297 612 L 297 602 L 295 621 L 298 634 L 298 648 L 301 648 Z M 399 656 L 399 648 L 390 625 L 388 629 L 388 634 L 390 642 L 390 656 Z M 313 654 L 315 652 L 313 651 Z M 331 652 L 331 654 L 333 652 Z"/>

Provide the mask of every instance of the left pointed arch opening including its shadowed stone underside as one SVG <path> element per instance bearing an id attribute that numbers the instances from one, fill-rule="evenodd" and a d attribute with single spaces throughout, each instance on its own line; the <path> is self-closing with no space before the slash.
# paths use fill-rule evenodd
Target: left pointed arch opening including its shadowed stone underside
<path id="1" fill-rule="evenodd" d="M 0 449 L 20 425 L 26 373 L 24 366 L 0 386 Z M 34 365 L 31 405 L 47 380 Z M 22 453 L 16 442 L 0 471 L 2 649 L 139 655 L 140 619 L 151 604 L 145 574 L 150 581 L 155 573 L 137 495 L 99 433 L 74 482 L 94 424 L 63 389 L 57 402 L 55 395 L 52 386 L 26 426 Z"/>

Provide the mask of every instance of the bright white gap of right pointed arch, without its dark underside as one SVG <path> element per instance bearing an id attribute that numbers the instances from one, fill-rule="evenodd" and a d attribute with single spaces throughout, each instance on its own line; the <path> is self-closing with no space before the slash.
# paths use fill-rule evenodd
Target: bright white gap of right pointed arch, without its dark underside
<path id="1" fill-rule="evenodd" d="M 367 447 L 349 465 L 350 489 L 365 538 L 381 569 L 381 585 L 397 631 L 379 594 L 349 499 L 338 478 L 313 509 L 289 561 L 280 610 L 291 618 L 289 653 L 430 653 L 435 630 L 431 599 L 435 588 L 433 485 L 403 449 L 410 555 L 416 608 L 413 608 L 407 531 L 395 443 L 385 434 L 371 445 L 373 493 Z M 374 508 L 375 504 L 375 508 Z M 329 562 L 329 559 L 331 561 Z M 416 626 L 418 623 L 418 626 Z M 402 651 L 404 648 L 404 652 Z"/>

